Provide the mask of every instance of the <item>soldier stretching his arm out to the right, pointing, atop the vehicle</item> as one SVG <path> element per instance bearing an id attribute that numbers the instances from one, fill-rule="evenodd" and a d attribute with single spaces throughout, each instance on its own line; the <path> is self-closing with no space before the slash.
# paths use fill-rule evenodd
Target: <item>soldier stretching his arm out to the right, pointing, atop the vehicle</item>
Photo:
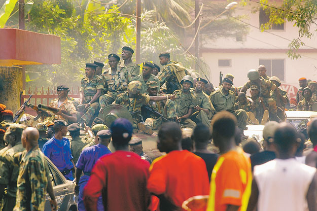
<path id="1" fill-rule="evenodd" d="M 149 130 L 142 123 L 141 107 L 149 101 L 162 101 L 168 99 L 168 96 L 149 96 L 147 94 L 140 94 L 142 90 L 142 84 L 139 81 L 132 81 L 128 85 L 128 91 L 118 95 L 116 104 L 124 105 L 127 110 L 132 114 L 133 128 L 138 128 L 148 134 L 152 134 L 153 131 Z M 174 95 L 170 96 L 171 98 Z"/>

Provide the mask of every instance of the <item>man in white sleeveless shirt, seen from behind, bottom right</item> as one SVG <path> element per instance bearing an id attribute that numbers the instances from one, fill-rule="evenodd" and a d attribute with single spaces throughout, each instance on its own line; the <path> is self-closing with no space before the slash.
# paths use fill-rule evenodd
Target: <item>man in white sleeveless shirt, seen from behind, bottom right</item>
<path id="1" fill-rule="evenodd" d="M 295 128 L 280 123 L 274 133 L 277 158 L 254 167 L 252 192 L 247 210 L 299 211 L 308 203 L 309 211 L 317 210 L 316 168 L 295 160 L 300 143 Z"/>

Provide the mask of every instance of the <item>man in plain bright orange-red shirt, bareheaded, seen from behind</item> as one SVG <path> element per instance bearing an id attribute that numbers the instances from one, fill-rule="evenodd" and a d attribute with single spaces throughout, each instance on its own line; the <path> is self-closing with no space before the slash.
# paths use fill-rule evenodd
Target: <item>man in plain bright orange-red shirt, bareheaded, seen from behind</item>
<path id="1" fill-rule="evenodd" d="M 175 122 L 162 125 L 157 148 L 167 154 L 153 161 L 148 190 L 160 199 L 160 210 L 179 210 L 183 201 L 209 193 L 205 162 L 187 150 L 181 150 L 182 131 Z"/>

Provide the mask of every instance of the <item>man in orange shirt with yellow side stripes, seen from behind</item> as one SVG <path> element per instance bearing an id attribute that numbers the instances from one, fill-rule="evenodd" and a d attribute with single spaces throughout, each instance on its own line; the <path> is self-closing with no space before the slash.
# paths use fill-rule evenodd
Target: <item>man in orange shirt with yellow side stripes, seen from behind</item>
<path id="1" fill-rule="evenodd" d="M 251 194 L 251 162 L 236 146 L 235 116 L 227 111 L 214 116 L 214 144 L 220 157 L 213 169 L 207 211 L 246 210 Z"/>

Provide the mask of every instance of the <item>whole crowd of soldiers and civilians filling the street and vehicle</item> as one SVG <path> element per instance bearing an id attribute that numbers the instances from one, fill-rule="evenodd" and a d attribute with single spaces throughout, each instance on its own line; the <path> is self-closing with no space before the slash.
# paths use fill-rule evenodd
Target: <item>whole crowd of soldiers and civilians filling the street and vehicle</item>
<path id="1" fill-rule="evenodd" d="M 103 63 L 86 63 L 79 101 L 59 85 L 53 109 L 36 108 L 39 118 L 21 108 L 13 123 L 0 104 L 2 210 L 44 210 L 46 192 L 57 207 L 44 155 L 75 182 L 79 210 L 317 210 L 317 120 L 299 131 L 285 122 L 287 110 L 317 111 L 317 82 L 299 79 L 289 100 L 264 65 L 241 87 L 226 74 L 215 88 L 168 52 L 159 55 L 162 70 L 145 61 L 142 74 L 132 55 L 123 47 L 121 64 L 109 54 L 104 72 Z M 113 103 L 132 122 L 108 127 L 97 117 Z M 247 124 L 265 125 L 261 142 L 245 141 Z M 157 136 L 162 156 L 143 151 L 140 131 Z M 308 138 L 314 149 L 304 156 Z"/>

